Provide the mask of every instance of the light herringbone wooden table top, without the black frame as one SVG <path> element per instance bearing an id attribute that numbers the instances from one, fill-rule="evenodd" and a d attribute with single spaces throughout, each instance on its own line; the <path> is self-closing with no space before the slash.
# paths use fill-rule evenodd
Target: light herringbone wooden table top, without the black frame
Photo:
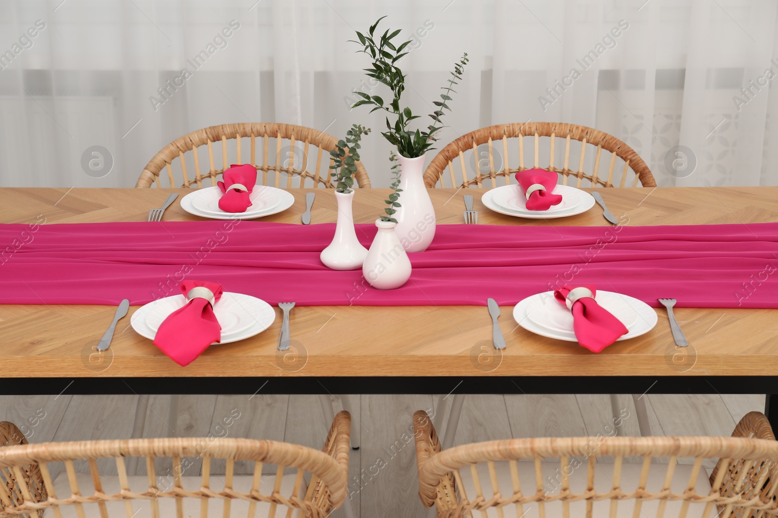
<path id="1" fill-rule="evenodd" d="M 305 193 L 264 221 L 300 223 Z M 626 225 L 778 222 L 778 187 L 598 189 Z M 358 189 L 354 221 L 371 223 L 388 189 Z M 189 189 L 0 189 L 2 223 L 145 221 L 171 192 Z M 493 213 L 468 189 L 478 224 L 608 226 L 598 206 L 557 220 L 522 220 Z M 333 191 L 316 189 L 311 222 L 335 221 Z M 430 189 L 438 224 L 463 223 L 463 190 Z M 180 197 L 165 221 L 201 218 L 181 210 Z M 2 266 L 0 266 L 2 273 Z M 507 347 L 492 349 L 492 322 L 480 306 L 313 306 L 292 311 L 297 352 L 277 351 L 281 311 L 265 332 L 211 346 L 179 367 L 148 339 L 117 325 L 106 356 L 93 349 L 114 315 L 100 305 L 0 305 L 2 377 L 324 377 L 324 376 L 743 376 L 778 373 L 778 311 L 678 308 L 692 343 L 679 353 L 664 309 L 646 335 L 593 354 L 572 342 L 534 335 L 516 325 L 511 307 L 499 318 Z M 686 355 L 686 356 L 684 356 Z M 204 391 L 208 391 L 204 388 Z"/>

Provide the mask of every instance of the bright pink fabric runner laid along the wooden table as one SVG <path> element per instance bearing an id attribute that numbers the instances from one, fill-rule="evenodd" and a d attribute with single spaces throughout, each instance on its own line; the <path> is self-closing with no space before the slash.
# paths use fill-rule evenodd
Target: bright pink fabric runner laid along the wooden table
<path id="1" fill-rule="evenodd" d="M 0 225 L 0 303 L 145 304 L 210 280 L 270 304 L 501 305 L 567 283 L 657 306 L 778 308 L 778 224 L 549 227 L 443 224 L 398 290 L 336 272 L 335 224 L 257 221 Z M 369 246 L 373 224 L 357 225 Z M 2 249 L 5 249 L 5 252 Z"/>

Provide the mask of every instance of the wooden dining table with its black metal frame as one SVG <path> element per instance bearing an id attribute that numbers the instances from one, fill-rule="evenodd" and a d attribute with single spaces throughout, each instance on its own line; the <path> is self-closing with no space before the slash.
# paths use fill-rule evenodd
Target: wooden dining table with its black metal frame
<path id="1" fill-rule="evenodd" d="M 295 203 L 262 218 L 301 224 L 315 191 L 311 224 L 334 222 L 331 189 L 290 189 Z M 778 222 L 778 187 L 598 189 L 619 224 Z M 2 188 L 0 222 L 59 224 L 146 221 L 170 193 L 180 193 L 163 222 L 202 221 L 180 207 L 190 189 Z M 598 226 L 584 214 L 527 220 L 481 203 L 485 189 L 429 189 L 437 224 L 462 224 L 465 193 L 478 224 Z M 356 223 L 382 213 L 389 189 L 357 189 Z M 151 224 L 151 223 L 149 223 Z M 164 224 L 164 223 L 163 223 Z M 4 248 L 8 244 L 2 244 Z M 2 255 L 2 263 L 14 260 Z M 778 261 L 778 259 L 776 259 Z M 0 264 L 0 275 L 2 275 Z M 195 270 L 196 271 L 196 270 Z M 766 289 L 776 289 L 776 280 Z M 366 289 L 366 288 L 363 288 Z M 672 294 L 668 294 L 671 296 Z M 484 301 L 485 303 L 485 301 Z M 778 425 L 778 309 L 676 308 L 691 345 L 675 346 L 664 308 L 645 335 L 594 354 L 574 342 L 535 335 L 500 308 L 506 349 L 492 346 L 483 306 L 304 306 L 291 313 L 292 346 L 277 349 L 281 318 L 252 338 L 209 347 L 187 367 L 173 363 L 129 325 L 131 307 L 110 348 L 96 344 L 115 308 L 105 305 L 0 305 L 2 391 L 16 394 L 766 394 Z M 281 311 L 275 308 L 280 317 Z"/>

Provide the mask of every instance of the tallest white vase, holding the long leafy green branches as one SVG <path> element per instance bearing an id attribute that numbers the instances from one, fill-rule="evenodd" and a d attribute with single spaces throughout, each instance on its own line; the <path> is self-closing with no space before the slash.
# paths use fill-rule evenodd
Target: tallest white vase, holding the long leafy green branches
<path id="1" fill-rule="evenodd" d="M 424 157 L 400 162 L 400 205 L 394 214 L 397 233 L 406 252 L 424 252 L 435 237 L 435 209 L 424 185 Z"/>

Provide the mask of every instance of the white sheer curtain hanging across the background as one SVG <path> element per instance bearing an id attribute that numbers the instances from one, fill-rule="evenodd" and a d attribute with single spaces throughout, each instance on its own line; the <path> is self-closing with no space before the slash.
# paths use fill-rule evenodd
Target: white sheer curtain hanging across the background
<path id="1" fill-rule="evenodd" d="M 778 184 L 772 0 L 5 0 L 0 184 L 133 186 L 173 139 L 248 120 L 338 137 L 366 124 L 363 162 L 388 186 L 383 116 L 348 107 L 353 89 L 381 95 L 347 40 L 383 15 L 414 39 L 414 113 L 471 57 L 439 148 L 496 123 L 571 122 L 626 141 L 661 186 Z"/>

